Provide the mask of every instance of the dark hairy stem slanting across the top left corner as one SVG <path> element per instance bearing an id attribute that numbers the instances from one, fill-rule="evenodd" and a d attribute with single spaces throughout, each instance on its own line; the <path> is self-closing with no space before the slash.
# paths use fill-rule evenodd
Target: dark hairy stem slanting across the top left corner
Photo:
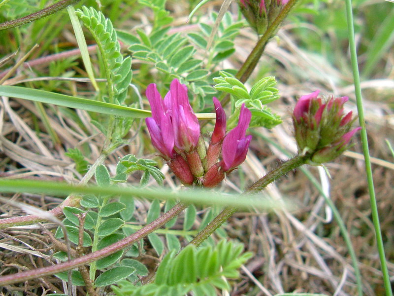
<path id="1" fill-rule="evenodd" d="M 13 20 L 13 21 L 1 23 L 0 24 L 0 31 L 6 30 L 6 29 L 11 29 L 14 27 L 18 27 L 18 26 L 36 21 L 40 18 L 49 16 L 55 12 L 58 12 L 64 8 L 66 8 L 68 5 L 74 4 L 76 2 L 79 2 L 79 0 L 61 0 L 51 6 L 48 6 L 42 10 L 39 10 L 39 11 L 29 14 L 27 16 L 21 17 L 19 19 Z"/>

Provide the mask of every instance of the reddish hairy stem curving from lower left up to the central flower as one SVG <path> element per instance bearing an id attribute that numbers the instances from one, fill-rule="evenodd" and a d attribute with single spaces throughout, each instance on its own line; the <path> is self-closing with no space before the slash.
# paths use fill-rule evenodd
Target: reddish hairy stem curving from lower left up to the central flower
<path id="1" fill-rule="evenodd" d="M 161 217 L 156 219 L 155 221 L 149 223 L 141 230 L 131 234 L 130 236 L 108 246 L 99 251 L 94 253 L 90 253 L 83 257 L 79 257 L 73 259 L 71 261 L 63 262 L 56 265 L 51 265 L 43 268 L 38 268 L 34 270 L 28 270 L 23 272 L 18 272 L 14 274 L 9 274 L 6 276 L 0 276 L 0 286 L 10 285 L 14 283 L 24 282 L 27 280 L 52 275 L 55 273 L 67 271 L 78 266 L 91 263 L 93 261 L 99 260 L 104 258 L 108 255 L 111 255 L 119 250 L 122 250 L 126 247 L 131 246 L 136 241 L 140 240 L 141 238 L 147 236 L 149 233 L 155 231 L 157 228 L 163 226 L 165 223 L 179 215 L 188 205 L 184 203 L 176 204 L 171 210 L 164 213 Z"/>

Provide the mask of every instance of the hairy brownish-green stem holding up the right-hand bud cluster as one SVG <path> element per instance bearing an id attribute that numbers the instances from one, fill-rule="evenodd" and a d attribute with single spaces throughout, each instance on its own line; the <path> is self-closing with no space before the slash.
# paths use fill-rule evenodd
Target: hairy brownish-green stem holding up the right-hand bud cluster
<path id="1" fill-rule="evenodd" d="M 276 169 L 270 171 L 259 181 L 254 183 L 248 189 L 246 189 L 245 193 L 257 193 L 263 188 L 265 188 L 268 184 L 271 184 L 276 179 L 284 176 L 291 170 L 294 170 L 296 167 L 303 165 L 306 161 L 305 156 L 297 155 L 296 157 L 282 163 Z M 199 246 L 204 240 L 206 240 L 213 232 L 216 231 L 224 222 L 226 222 L 236 211 L 236 208 L 228 207 L 224 209 L 216 218 L 210 222 L 204 229 L 197 234 L 197 236 L 190 242 L 196 246 Z"/>

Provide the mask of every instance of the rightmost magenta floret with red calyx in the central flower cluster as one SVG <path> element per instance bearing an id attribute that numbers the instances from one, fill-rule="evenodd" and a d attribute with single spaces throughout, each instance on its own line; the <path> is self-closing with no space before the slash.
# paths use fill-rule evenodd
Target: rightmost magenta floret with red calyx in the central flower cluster
<path id="1" fill-rule="evenodd" d="M 232 129 L 223 140 L 222 168 L 228 172 L 240 165 L 246 158 L 252 136 L 246 136 L 252 112 L 242 105 L 238 125 Z"/>

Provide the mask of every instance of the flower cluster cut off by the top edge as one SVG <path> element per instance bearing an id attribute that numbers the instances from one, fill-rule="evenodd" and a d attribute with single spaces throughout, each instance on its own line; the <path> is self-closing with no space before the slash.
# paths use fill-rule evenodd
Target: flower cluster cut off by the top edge
<path id="1" fill-rule="evenodd" d="M 261 35 L 275 20 L 289 0 L 239 0 L 239 7 L 249 25 Z"/>

